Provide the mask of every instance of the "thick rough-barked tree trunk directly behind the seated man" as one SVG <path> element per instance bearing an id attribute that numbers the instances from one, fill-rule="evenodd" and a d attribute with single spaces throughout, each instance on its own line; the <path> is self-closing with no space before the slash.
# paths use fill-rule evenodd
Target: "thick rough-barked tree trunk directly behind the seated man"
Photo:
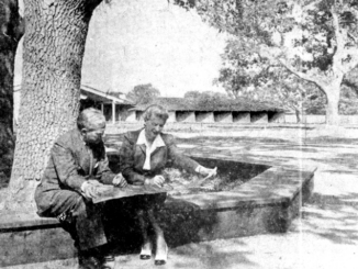
<path id="1" fill-rule="evenodd" d="M 54 141 L 75 126 L 85 43 L 101 0 L 25 0 L 19 132 L 7 208 L 34 211 Z"/>

